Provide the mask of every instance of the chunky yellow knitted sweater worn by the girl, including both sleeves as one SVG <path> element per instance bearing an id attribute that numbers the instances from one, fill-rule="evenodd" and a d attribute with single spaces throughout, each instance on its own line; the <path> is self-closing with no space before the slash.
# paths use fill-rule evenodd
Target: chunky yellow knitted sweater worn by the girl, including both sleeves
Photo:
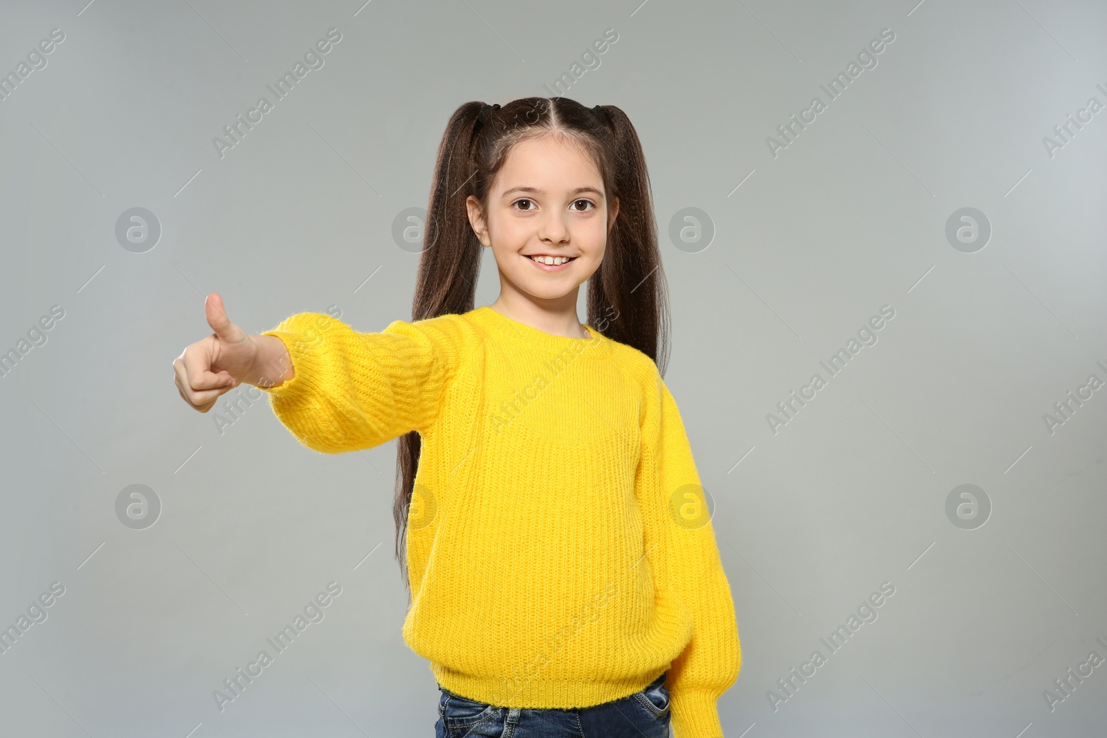
<path id="1" fill-rule="evenodd" d="M 489 306 L 379 333 L 299 313 L 265 332 L 294 370 L 267 392 L 317 451 L 420 433 L 403 635 L 438 684 L 571 709 L 668 669 L 675 738 L 717 738 L 741 648 L 687 436 L 654 362 L 586 329 Z"/>

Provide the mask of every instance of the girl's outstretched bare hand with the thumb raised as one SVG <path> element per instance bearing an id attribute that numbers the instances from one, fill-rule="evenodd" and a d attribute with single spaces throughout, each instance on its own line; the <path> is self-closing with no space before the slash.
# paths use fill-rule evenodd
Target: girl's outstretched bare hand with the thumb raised
<path id="1" fill-rule="evenodd" d="M 204 312 L 215 333 L 188 344 L 173 360 L 174 382 L 182 399 L 200 413 L 211 409 L 219 395 L 252 380 L 251 368 L 258 355 L 254 336 L 227 318 L 218 292 L 204 301 Z"/>

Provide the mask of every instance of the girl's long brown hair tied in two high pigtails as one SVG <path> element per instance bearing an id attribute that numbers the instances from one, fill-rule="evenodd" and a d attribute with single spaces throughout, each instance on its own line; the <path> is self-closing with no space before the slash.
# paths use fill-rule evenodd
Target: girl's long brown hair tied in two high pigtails
<path id="1" fill-rule="evenodd" d="M 614 105 L 584 107 L 568 97 L 523 97 L 500 107 L 470 102 L 449 117 L 438 145 L 412 320 L 466 313 L 474 308 L 482 247 L 465 206 L 469 195 L 488 211 L 488 189 L 511 148 L 534 136 L 561 135 L 597 162 L 608 202 L 619 212 L 603 261 L 588 280 L 587 323 L 648 355 L 664 376 L 669 358 L 669 294 L 658 250 L 645 156 L 627 114 Z M 407 509 L 421 439 L 400 436 L 396 451 L 396 559 L 407 579 Z"/>

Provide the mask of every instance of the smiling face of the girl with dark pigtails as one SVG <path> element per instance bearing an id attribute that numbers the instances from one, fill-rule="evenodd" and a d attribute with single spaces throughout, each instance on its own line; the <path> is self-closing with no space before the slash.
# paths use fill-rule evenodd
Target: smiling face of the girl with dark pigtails
<path id="1" fill-rule="evenodd" d="M 568 297 L 572 305 L 603 260 L 619 211 L 596 162 L 560 136 L 517 144 L 489 188 L 488 211 L 473 196 L 466 205 L 477 238 L 492 247 L 501 291 L 539 301 Z M 558 264 L 563 257 L 569 261 Z"/>

